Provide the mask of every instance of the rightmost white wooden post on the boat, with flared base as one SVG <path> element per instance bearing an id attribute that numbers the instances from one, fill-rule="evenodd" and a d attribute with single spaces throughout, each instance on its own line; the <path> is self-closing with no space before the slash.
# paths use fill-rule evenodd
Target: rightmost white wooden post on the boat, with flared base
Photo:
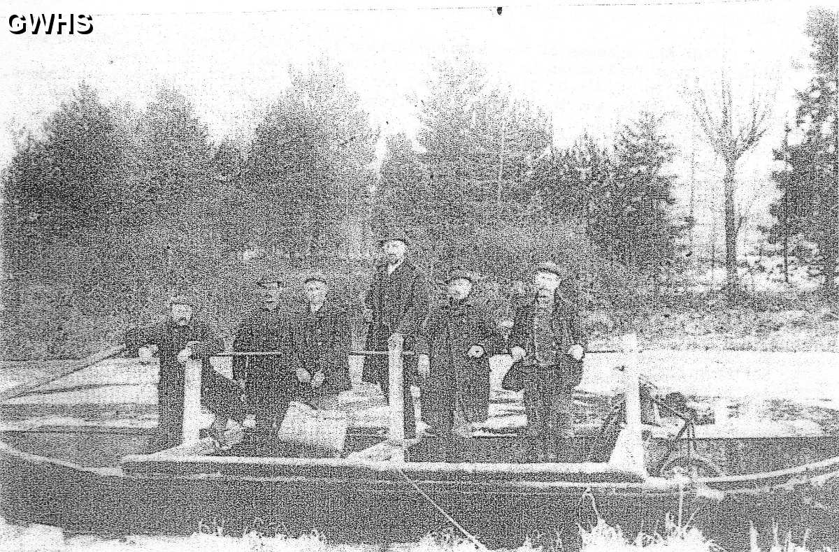
<path id="1" fill-rule="evenodd" d="M 610 462 L 644 471 L 644 440 L 641 435 L 641 401 L 638 383 L 638 335 L 623 336 L 626 366 L 623 370 L 623 400 L 626 408 L 626 425 L 618 435 Z"/>

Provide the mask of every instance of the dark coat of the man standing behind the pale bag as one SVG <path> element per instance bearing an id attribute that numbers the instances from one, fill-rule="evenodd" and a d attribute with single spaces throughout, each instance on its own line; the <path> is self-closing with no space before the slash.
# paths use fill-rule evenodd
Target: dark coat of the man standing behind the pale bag
<path id="1" fill-rule="evenodd" d="M 347 310 L 329 299 L 313 313 L 309 305 L 294 310 L 289 320 L 291 337 L 291 373 L 298 368 L 310 374 L 323 372 L 324 383 L 312 389 L 309 383 L 297 384 L 297 395 L 304 398 L 336 394 L 352 388 L 347 359 L 352 347 L 350 316 Z"/>

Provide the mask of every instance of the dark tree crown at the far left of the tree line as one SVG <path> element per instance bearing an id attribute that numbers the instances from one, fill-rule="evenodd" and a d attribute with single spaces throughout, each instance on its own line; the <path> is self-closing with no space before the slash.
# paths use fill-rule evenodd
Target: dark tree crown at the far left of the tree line
<path id="1" fill-rule="evenodd" d="M 44 247 L 107 227 L 124 205 L 127 135 L 82 82 L 44 122 L 40 138 L 18 144 L 4 179 L 7 271 L 17 273 Z"/>

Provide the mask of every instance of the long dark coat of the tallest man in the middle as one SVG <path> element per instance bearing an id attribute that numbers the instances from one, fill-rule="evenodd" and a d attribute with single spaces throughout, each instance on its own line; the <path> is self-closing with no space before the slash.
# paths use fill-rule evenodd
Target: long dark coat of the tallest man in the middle
<path id="1" fill-rule="evenodd" d="M 388 337 L 393 333 L 405 336 L 406 351 L 414 349 L 420 326 L 428 314 L 429 285 L 425 275 L 408 260 L 388 274 L 387 263 L 377 263 L 364 299 L 373 311 L 367 328 L 367 351 L 387 351 Z M 407 378 L 415 370 L 416 359 L 406 360 Z M 379 383 L 388 379 L 387 357 L 366 357 L 362 379 Z"/>

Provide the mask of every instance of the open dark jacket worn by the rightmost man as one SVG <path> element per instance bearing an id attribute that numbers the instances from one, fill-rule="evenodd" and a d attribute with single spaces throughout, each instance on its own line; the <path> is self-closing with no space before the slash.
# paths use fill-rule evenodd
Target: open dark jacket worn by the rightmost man
<path id="1" fill-rule="evenodd" d="M 513 329 L 510 331 L 509 346 L 524 348 L 526 357 L 513 364 L 513 372 L 536 375 L 543 378 L 560 378 L 566 388 L 575 388 L 582 377 L 582 361 L 577 361 L 567 354 L 571 346 L 580 345 L 586 349 L 586 332 L 582 323 L 580 302 L 573 289 L 560 286 L 554 299 L 554 313 L 551 327 L 554 333 L 554 352 L 557 362 L 554 367 L 538 368 L 535 363 L 534 317 L 536 298 L 520 305 L 513 317 Z"/>

